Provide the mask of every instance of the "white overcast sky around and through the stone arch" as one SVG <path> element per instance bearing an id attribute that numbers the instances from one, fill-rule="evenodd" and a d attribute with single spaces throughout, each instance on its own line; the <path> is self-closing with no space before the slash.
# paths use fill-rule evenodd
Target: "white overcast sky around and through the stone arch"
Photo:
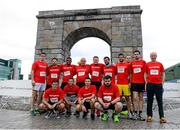
<path id="1" fill-rule="evenodd" d="M 180 62 L 180 2 L 179 0 L 0 0 L 0 58 L 22 60 L 22 73 L 31 70 L 36 44 L 38 11 L 110 8 L 112 6 L 140 5 L 144 59 L 157 51 L 158 60 L 165 68 Z M 96 46 L 84 51 L 88 42 Z M 98 43 L 98 44 L 97 44 Z M 98 45 L 98 47 L 97 47 Z M 109 46 L 98 38 L 85 38 L 72 48 L 73 62 L 84 56 L 90 63 L 94 51 L 102 58 L 109 55 Z M 98 51 L 97 51 L 98 52 Z"/>

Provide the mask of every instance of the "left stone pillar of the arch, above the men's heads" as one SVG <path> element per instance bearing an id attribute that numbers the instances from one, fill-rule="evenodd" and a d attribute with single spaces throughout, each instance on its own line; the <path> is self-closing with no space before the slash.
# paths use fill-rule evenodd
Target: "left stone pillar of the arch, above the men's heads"
<path id="1" fill-rule="evenodd" d="M 61 12 L 61 11 L 59 11 Z M 57 13 L 57 12 L 56 12 Z M 46 53 L 46 61 L 51 58 L 58 58 L 59 63 L 64 62 L 65 51 L 62 47 L 63 19 L 62 18 L 43 18 L 52 15 L 53 12 L 39 12 L 37 41 L 35 47 L 35 60 L 41 52 Z"/>

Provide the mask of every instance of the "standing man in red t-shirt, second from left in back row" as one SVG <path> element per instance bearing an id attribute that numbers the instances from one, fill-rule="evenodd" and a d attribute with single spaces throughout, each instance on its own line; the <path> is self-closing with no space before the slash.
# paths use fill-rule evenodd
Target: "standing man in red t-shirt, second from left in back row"
<path id="1" fill-rule="evenodd" d="M 52 65 L 48 67 L 46 90 L 51 87 L 53 80 L 59 81 L 60 79 L 61 69 L 60 66 L 57 64 L 57 60 L 58 60 L 57 58 L 52 58 L 51 59 Z"/>

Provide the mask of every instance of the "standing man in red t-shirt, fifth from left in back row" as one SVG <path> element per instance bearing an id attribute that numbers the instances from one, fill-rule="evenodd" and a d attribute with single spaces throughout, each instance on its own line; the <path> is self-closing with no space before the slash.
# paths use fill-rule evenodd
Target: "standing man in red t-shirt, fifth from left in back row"
<path id="1" fill-rule="evenodd" d="M 90 74 L 92 85 L 96 86 L 96 90 L 98 92 L 99 87 L 101 86 L 102 75 L 103 75 L 103 67 L 104 65 L 99 63 L 99 57 L 93 57 L 93 64 L 90 65 Z"/>

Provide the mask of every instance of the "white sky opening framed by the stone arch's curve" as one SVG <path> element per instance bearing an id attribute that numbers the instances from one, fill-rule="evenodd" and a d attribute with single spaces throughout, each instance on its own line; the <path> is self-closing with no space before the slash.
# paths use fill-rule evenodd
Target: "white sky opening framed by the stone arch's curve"
<path id="1" fill-rule="evenodd" d="M 81 39 L 71 48 L 73 64 L 77 64 L 82 57 L 86 58 L 87 64 L 91 64 L 92 58 L 95 55 L 99 57 L 100 63 L 103 63 L 104 56 L 110 57 L 109 44 L 97 37 Z"/>

